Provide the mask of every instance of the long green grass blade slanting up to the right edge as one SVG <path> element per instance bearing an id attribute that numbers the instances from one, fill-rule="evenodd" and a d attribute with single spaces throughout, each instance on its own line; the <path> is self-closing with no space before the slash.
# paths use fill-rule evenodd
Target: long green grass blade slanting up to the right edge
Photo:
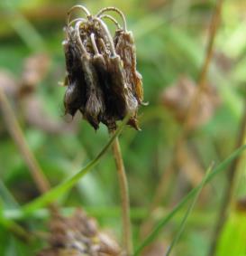
<path id="1" fill-rule="evenodd" d="M 226 158 L 219 166 L 214 168 L 214 171 L 211 172 L 206 178 L 205 178 L 205 184 L 210 182 L 215 175 L 218 175 L 222 173 L 226 166 L 228 166 L 233 159 L 235 159 L 237 156 L 239 156 L 244 150 L 246 149 L 246 145 L 239 147 L 235 151 L 233 151 L 232 155 Z M 139 255 L 139 253 L 143 250 L 144 247 L 150 244 L 150 242 L 153 242 L 154 239 L 157 237 L 159 232 L 163 229 L 163 227 L 169 223 L 169 221 L 174 217 L 176 213 L 187 203 L 187 201 L 196 194 L 197 190 L 199 190 L 200 186 L 196 186 L 194 189 L 192 189 L 182 200 L 179 204 L 177 204 L 174 209 L 165 216 L 162 220 L 157 223 L 157 225 L 153 228 L 152 232 L 146 237 L 146 239 L 141 242 L 141 245 L 137 247 L 136 251 L 134 252 L 133 256 Z"/>

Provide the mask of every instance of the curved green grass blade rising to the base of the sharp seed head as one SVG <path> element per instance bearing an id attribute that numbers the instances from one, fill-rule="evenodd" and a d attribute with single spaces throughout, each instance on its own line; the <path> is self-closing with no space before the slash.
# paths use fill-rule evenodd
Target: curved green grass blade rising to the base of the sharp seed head
<path id="1" fill-rule="evenodd" d="M 49 204 L 53 202 L 53 200 L 57 199 L 61 194 L 64 194 L 67 192 L 70 188 L 72 188 L 73 185 L 77 183 L 77 181 L 82 178 L 84 175 L 87 175 L 89 171 L 95 167 L 102 156 L 105 155 L 105 152 L 107 149 L 112 145 L 114 142 L 115 137 L 117 137 L 123 130 L 123 127 L 128 122 L 129 117 L 127 116 L 125 119 L 123 119 L 122 124 L 117 128 L 117 130 L 114 133 L 114 136 L 110 138 L 108 143 L 105 145 L 105 147 L 101 150 L 101 152 L 96 156 L 94 160 L 89 162 L 87 166 L 82 168 L 76 175 L 73 175 L 70 177 L 67 181 L 64 183 L 55 186 L 54 188 L 50 189 L 49 192 L 42 194 L 38 198 L 34 199 L 31 203 L 26 204 L 23 206 L 23 213 L 28 214 L 31 213 L 33 210 L 40 208 L 43 205 Z"/>

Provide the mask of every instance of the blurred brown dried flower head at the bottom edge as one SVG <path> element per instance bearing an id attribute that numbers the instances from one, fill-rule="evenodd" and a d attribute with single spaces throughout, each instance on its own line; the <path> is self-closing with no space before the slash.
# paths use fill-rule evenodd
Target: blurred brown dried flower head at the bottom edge
<path id="1" fill-rule="evenodd" d="M 39 256 L 120 256 L 123 251 L 107 234 L 98 230 L 96 221 L 77 210 L 71 217 L 52 213 L 50 247 Z"/>

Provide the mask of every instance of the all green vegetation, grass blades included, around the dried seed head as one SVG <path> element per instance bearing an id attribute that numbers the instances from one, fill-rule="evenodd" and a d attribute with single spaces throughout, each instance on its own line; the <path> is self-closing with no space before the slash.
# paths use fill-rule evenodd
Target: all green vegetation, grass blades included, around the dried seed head
<path id="1" fill-rule="evenodd" d="M 126 118 L 109 137 L 64 117 L 61 43 L 76 4 L 126 15 L 149 102 L 141 131 Z M 123 245 L 118 135 L 133 255 L 246 255 L 245 11 L 241 0 L 2 1 L 0 255 L 47 248 L 54 205 L 64 216 L 82 208 Z"/>

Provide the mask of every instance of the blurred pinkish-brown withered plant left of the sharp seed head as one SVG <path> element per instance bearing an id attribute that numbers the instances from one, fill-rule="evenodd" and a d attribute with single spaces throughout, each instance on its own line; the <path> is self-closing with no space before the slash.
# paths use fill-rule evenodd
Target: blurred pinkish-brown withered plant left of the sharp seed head
<path id="1" fill-rule="evenodd" d="M 49 133 L 63 133 L 75 130 L 74 124 L 67 124 L 50 117 L 44 110 L 44 102 L 38 97 L 37 89 L 50 69 L 50 56 L 46 53 L 33 54 L 23 61 L 19 81 L 11 71 L 0 71 L 0 87 L 13 101 L 18 117 L 32 127 Z M 0 128 L 0 132 L 4 129 Z"/>

